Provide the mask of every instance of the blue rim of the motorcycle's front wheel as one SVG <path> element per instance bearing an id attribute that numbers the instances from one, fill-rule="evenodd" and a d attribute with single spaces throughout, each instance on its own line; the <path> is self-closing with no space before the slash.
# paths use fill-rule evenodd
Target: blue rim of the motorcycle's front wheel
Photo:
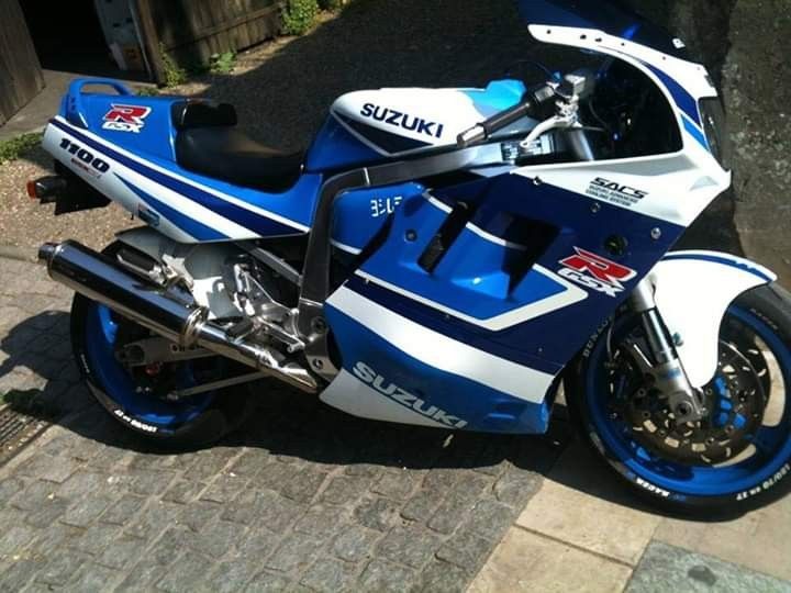
<path id="1" fill-rule="evenodd" d="M 599 340 L 588 366 L 586 377 L 586 405 L 595 434 L 611 456 L 626 469 L 630 479 L 636 477 L 670 492 L 689 496 L 720 496 L 742 492 L 771 482 L 791 458 L 791 405 L 788 390 L 791 387 L 791 350 L 759 317 L 736 305 L 728 309 L 735 317 L 760 337 L 777 359 L 786 392 L 783 413 L 775 427 L 762 426 L 753 444 L 753 456 L 733 466 L 699 467 L 651 456 L 631 436 L 631 429 L 621 419 L 612 419 L 608 406 L 609 390 L 604 370 L 605 345 Z"/>

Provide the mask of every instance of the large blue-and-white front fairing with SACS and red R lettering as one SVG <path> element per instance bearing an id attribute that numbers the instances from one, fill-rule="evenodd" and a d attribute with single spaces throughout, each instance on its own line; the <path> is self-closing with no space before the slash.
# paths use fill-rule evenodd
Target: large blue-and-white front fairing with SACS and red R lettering
<path id="1" fill-rule="evenodd" d="M 480 169 L 479 181 L 405 200 L 387 240 L 327 301 L 344 367 L 323 395 L 331 405 L 392 422 L 439 417 L 448 427 L 544 430 L 564 367 L 731 183 L 699 108 L 716 89 L 680 42 L 608 3 L 531 0 L 523 12 L 537 40 L 643 72 L 667 99 L 668 125 L 675 119 L 681 143 L 646 156 Z M 400 98 L 376 98 L 385 97 Z M 348 96 L 339 107 L 363 110 L 370 100 Z M 426 266 L 463 204 L 472 204 L 475 216 L 438 264 Z M 626 247 L 609 253 L 612 239 Z M 528 269 L 514 265 L 531 258 Z M 602 267 L 604 275 L 591 271 Z M 664 293 L 673 286 L 666 282 Z M 728 294 L 744 286 L 734 282 Z M 717 313 L 700 314 L 718 327 Z M 698 337 L 711 339 L 711 332 L 690 336 Z M 695 365 L 698 382 L 708 380 L 708 359 Z M 506 372 L 509 363 L 533 374 L 504 385 L 487 372 Z"/>

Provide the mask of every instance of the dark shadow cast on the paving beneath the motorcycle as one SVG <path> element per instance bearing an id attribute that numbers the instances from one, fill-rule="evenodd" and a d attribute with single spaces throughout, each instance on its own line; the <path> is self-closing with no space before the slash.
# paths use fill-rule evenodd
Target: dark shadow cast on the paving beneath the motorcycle
<path id="1" fill-rule="evenodd" d="M 53 320 L 53 315 L 56 320 Z M 19 336 L 47 323 L 68 326 L 66 313 L 42 313 L 25 320 L 0 342 L 0 351 L 9 358 L 0 365 L 0 378 L 19 366 L 25 366 L 43 379 L 41 389 L 12 392 L 10 406 L 40 419 L 59 424 L 79 436 L 111 447 L 151 455 L 171 455 L 152 446 L 111 418 L 81 385 L 62 390 L 56 385 L 64 371 L 55 371 L 46 357 L 31 357 L 20 348 Z M 68 369 L 76 372 L 76 365 Z M 542 436 L 450 433 L 423 427 L 387 424 L 356 418 L 328 407 L 317 398 L 259 383 L 249 395 L 254 411 L 248 421 L 218 447 L 256 447 L 272 456 L 301 459 L 324 466 L 376 466 L 404 470 L 432 468 L 476 469 L 487 471 L 503 462 L 524 471 L 548 475 L 564 485 L 623 506 L 659 514 L 630 494 L 583 447 L 579 460 L 569 468 L 554 471 L 556 461 L 575 440 L 566 410 L 559 406 L 550 430 Z M 579 468 L 579 471 L 575 470 Z M 591 471 L 595 467 L 595 471 Z M 593 479 L 592 479 L 593 478 Z M 727 519 L 733 517 L 722 517 Z M 718 521 L 710 517 L 711 521 Z"/>

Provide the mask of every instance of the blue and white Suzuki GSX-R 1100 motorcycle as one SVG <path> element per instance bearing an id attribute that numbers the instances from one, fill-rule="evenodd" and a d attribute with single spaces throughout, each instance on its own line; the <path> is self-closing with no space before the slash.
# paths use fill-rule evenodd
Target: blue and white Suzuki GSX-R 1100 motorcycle
<path id="1" fill-rule="evenodd" d="M 670 251 L 731 184 L 711 78 L 621 9 L 521 4 L 588 67 L 352 92 L 304 154 L 252 141 L 227 104 L 71 85 L 44 137 L 58 175 L 31 191 L 147 223 L 103 254 L 40 253 L 77 292 L 76 357 L 118 421 L 205 443 L 244 417 L 239 385 L 277 380 L 365 418 L 541 434 L 565 385 L 657 502 L 783 490 L 789 295 L 750 261 Z"/>

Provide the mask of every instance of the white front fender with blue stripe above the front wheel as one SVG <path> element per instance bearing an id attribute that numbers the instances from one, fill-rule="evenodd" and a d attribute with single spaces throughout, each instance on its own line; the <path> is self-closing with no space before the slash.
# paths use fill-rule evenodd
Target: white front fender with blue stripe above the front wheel
<path id="1" fill-rule="evenodd" d="M 690 383 L 701 388 L 714 377 L 720 325 L 743 292 L 777 280 L 747 259 L 716 251 L 668 254 L 649 276 L 655 301 L 677 346 Z"/>

